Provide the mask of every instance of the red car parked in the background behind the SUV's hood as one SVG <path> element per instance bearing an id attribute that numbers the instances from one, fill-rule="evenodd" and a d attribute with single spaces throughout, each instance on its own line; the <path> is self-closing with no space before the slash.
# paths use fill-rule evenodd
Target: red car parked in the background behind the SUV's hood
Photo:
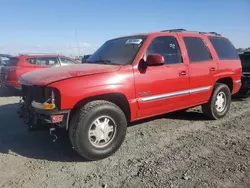
<path id="1" fill-rule="evenodd" d="M 21 89 L 18 78 L 24 73 L 53 66 L 72 65 L 79 63 L 74 59 L 60 55 L 25 54 L 9 59 L 2 68 L 1 82 L 6 87 Z"/>

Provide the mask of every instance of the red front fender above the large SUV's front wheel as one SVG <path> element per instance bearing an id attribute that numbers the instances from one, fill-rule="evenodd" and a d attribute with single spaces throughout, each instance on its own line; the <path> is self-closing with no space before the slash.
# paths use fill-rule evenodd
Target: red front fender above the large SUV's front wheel
<path id="1" fill-rule="evenodd" d="M 62 80 L 49 85 L 60 91 L 61 109 L 72 109 L 78 101 L 108 93 L 121 93 L 128 101 L 135 98 L 132 71 L 98 74 Z"/>

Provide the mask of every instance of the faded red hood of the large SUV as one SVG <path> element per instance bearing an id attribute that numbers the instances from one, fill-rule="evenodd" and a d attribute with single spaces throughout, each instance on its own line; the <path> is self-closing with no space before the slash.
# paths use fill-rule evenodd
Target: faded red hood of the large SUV
<path id="1" fill-rule="evenodd" d="M 23 85 L 48 85 L 64 79 L 118 71 L 121 66 L 79 64 L 35 70 L 19 77 Z"/>

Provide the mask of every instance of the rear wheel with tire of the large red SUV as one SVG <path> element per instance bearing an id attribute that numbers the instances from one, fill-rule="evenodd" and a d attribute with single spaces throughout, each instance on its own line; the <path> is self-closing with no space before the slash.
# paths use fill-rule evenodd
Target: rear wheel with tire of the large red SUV
<path id="1" fill-rule="evenodd" d="M 224 108 L 221 108 L 220 110 L 218 109 L 218 106 L 216 107 L 216 101 L 217 101 L 217 97 L 224 95 L 225 99 L 225 104 L 223 105 Z M 210 100 L 208 101 L 208 103 L 203 104 L 202 105 L 202 111 L 203 113 L 213 119 L 220 119 L 223 118 L 231 105 L 231 91 L 229 89 L 229 87 L 225 84 L 221 84 L 221 83 L 216 83 L 214 86 L 214 90 L 213 93 L 210 97 Z"/>

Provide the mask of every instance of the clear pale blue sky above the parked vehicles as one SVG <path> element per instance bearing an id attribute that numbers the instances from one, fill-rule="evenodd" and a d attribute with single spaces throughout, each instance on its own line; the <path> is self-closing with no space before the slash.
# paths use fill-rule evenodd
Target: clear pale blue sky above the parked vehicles
<path id="1" fill-rule="evenodd" d="M 250 0 L 0 0 L 0 53 L 93 53 L 106 40 L 185 28 L 250 46 Z"/>

